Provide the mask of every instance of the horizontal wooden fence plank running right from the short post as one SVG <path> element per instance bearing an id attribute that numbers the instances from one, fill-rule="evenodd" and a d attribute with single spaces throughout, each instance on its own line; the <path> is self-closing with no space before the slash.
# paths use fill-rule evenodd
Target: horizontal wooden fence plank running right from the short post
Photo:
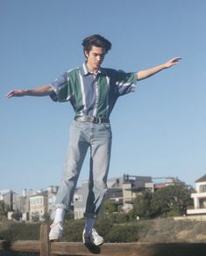
<path id="1" fill-rule="evenodd" d="M 82 243 L 53 242 L 51 252 L 59 255 L 94 255 L 101 256 L 204 256 L 206 244 L 196 243 L 117 243 L 104 244 L 100 247 L 85 246 Z"/>

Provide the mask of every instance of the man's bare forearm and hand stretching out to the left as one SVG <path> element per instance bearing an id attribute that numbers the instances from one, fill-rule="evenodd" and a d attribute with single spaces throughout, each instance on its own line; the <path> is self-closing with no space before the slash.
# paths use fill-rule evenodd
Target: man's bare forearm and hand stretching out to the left
<path id="1" fill-rule="evenodd" d="M 52 86 L 47 84 L 47 85 L 42 85 L 40 87 L 36 87 L 33 89 L 29 90 L 13 90 L 10 91 L 6 97 L 10 99 L 11 97 L 22 97 L 22 96 L 47 96 L 52 94 L 53 89 Z"/>

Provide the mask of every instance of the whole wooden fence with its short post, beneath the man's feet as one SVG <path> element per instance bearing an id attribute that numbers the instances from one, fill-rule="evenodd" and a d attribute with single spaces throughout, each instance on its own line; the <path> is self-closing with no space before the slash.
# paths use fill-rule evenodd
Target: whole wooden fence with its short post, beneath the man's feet
<path id="1" fill-rule="evenodd" d="M 112 243 L 100 247 L 82 243 L 50 242 L 48 224 L 40 228 L 39 241 L 0 241 L 0 252 L 39 252 L 40 256 L 205 256 L 206 243 Z"/>

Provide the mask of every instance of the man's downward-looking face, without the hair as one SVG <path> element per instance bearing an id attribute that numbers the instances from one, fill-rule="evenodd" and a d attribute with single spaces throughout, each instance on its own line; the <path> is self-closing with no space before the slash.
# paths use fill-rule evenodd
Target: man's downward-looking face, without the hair
<path id="1" fill-rule="evenodd" d="M 97 48 L 93 46 L 89 52 L 85 52 L 85 55 L 88 58 L 88 66 L 90 69 L 99 69 L 103 62 L 105 55 L 104 48 Z"/>

